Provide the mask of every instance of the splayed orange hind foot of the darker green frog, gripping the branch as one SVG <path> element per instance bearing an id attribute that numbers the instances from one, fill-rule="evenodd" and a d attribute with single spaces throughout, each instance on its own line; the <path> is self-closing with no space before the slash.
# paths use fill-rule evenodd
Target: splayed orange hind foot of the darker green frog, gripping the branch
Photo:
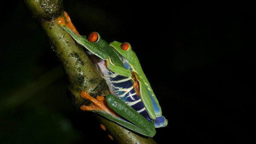
<path id="1" fill-rule="evenodd" d="M 85 98 L 87 100 L 90 100 L 92 103 L 89 106 L 81 106 L 80 109 L 83 111 L 89 111 L 89 110 L 102 110 L 105 112 L 108 112 L 111 115 L 114 115 L 116 117 L 120 117 L 114 110 L 112 110 L 108 104 L 106 103 L 106 100 L 102 96 L 97 96 L 95 99 L 94 97 L 90 96 L 86 90 L 83 90 L 80 93 L 80 96 L 82 98 Z"/>

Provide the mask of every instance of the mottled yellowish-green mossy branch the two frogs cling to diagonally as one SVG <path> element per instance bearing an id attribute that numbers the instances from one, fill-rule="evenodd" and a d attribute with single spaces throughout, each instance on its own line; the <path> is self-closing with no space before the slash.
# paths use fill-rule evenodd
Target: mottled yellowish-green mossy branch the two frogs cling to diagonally
<path id="1" fill-rule="evenodd" d="M 24 4 L 31 18 L 42 28 L 62 65 L 69 83 L 68 97 L 72 106 L 80 110 L 80 106 L 90 104 L 90 101 L 80 97 L 82 90 L 88 91 L 94 97 L 109 94 L 106 82 L 85 54 L 83 48 L 58 26 L 56 20 L 64 14 L 62 0 L 24 0 Z M 118 144 L 156 144 L 151 137 L 129 131 L 97 114 L 94 116 L 106 127 Z"/>

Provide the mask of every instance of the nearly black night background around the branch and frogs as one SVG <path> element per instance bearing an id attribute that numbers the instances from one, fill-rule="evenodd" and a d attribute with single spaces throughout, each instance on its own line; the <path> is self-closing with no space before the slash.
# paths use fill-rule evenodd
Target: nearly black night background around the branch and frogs
<path id="1" fill-rule="evenodd" d="M 63 4 L 80 34 L 132 45 L 169 122 L 156 142 L 255 142 L 253 2 Z M 71 107 L 60 63 L 22 1 L 1 7 L 0 143 L 111 142 L 90 112 Z"/>

